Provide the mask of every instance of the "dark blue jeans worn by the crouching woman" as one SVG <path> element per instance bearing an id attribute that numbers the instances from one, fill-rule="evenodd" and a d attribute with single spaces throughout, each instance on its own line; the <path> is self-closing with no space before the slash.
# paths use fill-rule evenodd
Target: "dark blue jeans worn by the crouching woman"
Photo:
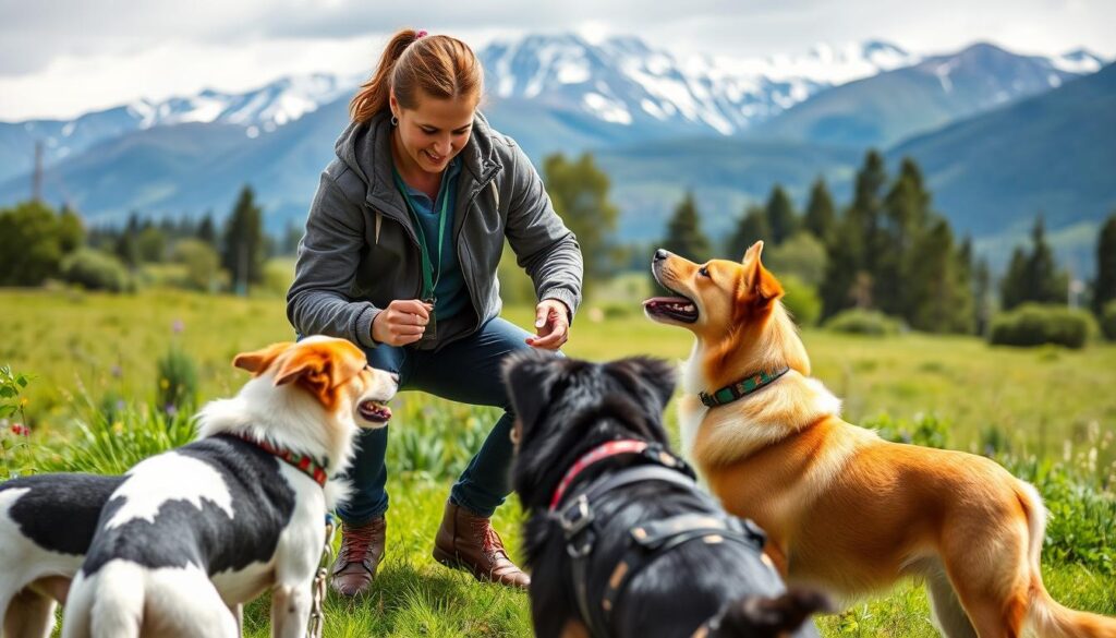
<path id="1" fill-rule="evenodd" d="M 503 389 L 500 363 L 511 352 L 530 347 L 525 342 L 528 336 L 530 333 L 521 327 L 496 317 L 439 352 L 391 345 L 365 351 L 373 368 L 400 375 L 400 390 L 422 390 L 451 401 L 504 409 L 450 491 L 452 503 L 481 516 L 491 516 L 511 493 L 514 416 Z M 337 507 L 341 521 L 350 525 L 366 523 L 387 511 L 384 457 L 388 429 L 362 430 L 357 439 L 356 457 L 347 476 L 353 494 Z"/>

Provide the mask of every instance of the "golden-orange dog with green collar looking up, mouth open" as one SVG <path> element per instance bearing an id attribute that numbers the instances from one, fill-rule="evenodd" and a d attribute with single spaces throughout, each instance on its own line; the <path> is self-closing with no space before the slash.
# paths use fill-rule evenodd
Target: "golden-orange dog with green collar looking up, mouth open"
<path id="1" fill-rule="evenodd" d="M 684 449 L 727 510 L 769 534 L 795 583 L 847 602 L 906 575 L 925 579 L 950 638 L 1116 638 L 1116 620 L 1055 602 L 1039 552 L 1038 492 L 974 455 L 899 445 L 839 417 L 760 260 L 694 264 L 665 250 L 645 302 L 696 337 L 684 373 Z"/>

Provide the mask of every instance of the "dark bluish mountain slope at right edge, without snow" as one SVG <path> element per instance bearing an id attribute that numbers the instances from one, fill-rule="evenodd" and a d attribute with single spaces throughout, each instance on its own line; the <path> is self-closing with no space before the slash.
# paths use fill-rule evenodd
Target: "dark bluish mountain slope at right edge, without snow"
<path id="1" fill-rule="evenodd" d="M 936 206 L 973 235 L 1101 219 L 1116 207 L 1116 65 L 1045 95 L 915 137 Z"/>

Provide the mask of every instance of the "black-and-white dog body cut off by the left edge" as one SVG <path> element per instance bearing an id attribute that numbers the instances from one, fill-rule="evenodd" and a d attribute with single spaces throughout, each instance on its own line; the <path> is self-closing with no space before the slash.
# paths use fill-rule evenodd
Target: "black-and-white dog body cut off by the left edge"
<path id="1" fill-rule="evenodd" d="M 123 476 L 40 474 L 0 485 L 0 636 L 47 638 Z"/>

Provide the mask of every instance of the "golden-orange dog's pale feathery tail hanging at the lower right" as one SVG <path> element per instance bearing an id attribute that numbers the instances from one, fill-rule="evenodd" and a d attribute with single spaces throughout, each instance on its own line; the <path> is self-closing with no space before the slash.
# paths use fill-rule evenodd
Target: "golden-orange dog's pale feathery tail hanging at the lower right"
<path id="1" fill-rule="evenodd" d="M 1116 619 L 1069 609 L 1050 598 L 1042 584 L 1040 565 L 1047 520 L 1042 497 L 1033 485 L 1022 480 L 1018 482 L 1016 495 L 1027 513 L 1030 531 L 1028 558 L 1031 582 L 1028 591 L 1028 620 L 1035 634 L 1040 638 L 1116 638 Z"/>

